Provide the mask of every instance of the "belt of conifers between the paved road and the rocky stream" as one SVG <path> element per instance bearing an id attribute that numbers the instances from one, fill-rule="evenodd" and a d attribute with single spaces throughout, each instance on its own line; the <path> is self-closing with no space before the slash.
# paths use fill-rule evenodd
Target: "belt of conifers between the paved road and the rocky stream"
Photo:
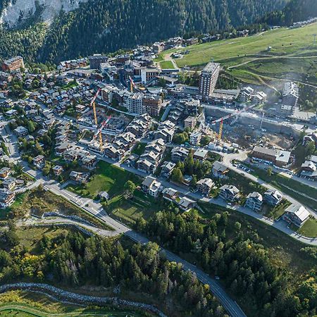
<path id="1" fill-rule="evenodd" d="M 20 247 L 15 226 L 9 223 L 2 240 L 11 248 L 0 250 L 0 280 L 24 278 L 58 285 L 98 285 L 113 290 L 150 294 L 170 307 L 168 316 L 228 316 L 208 285 L 159 253 L 155 243 L 120 243 L 120 240 L 85 237 L 70 231 L 54 238 L 44 235 L 36 253 Z"/>

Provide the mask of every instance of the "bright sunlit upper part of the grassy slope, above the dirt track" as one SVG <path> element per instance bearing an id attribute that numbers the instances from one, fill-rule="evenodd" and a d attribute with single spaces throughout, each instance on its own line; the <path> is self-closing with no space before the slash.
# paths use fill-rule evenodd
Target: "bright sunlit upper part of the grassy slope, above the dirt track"
<path id="1" fill-rule="evenodd" d="M 317 23 L 302 27 L 299 29 L 289 30 L 282 28 L 259 33 L 249 37 L 237 37 L 235 39 L 223 39 L 216 42 L 204 43 L 188 46 L 189 54 L 183 58 L 177 59 L 178 66 L 199 66 L 211 61 L 221 61 L 228 66 L 236 62 L 236 58 L 244 58 L 239 63 L 248 60 L 245 55 L 250 54 L 269 54 L 274 56 L 286 56 L 289 54 L 317 54 L 317 46 L 313 46 L 313 32 L 317 30 Z M 270 52 L 266 48 L 272 46 Z M 161 56 L 172 49 L 164 51 Z M 251 59 L 251 58 L 250 58 Z"/>

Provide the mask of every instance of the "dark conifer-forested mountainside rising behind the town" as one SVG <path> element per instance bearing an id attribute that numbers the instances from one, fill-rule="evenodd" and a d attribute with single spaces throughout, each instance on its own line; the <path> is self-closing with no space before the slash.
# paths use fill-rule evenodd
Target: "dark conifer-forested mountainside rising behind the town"
<path id="1" fill-rule="evenodd" d="M 56 63 L 95 52 L 130 49 L 176 35 L 217 32 L 253 23 L 285 3 L 203 0 L 198 5 L 195 0 L 90 0 L 74 11 L 62 11 L 50 27 L 35 25 L 30 17 L 28 26 L 24 23 L 18 30 L 1 30 L 0 57 L 21 54 L 29 61 Z M 35 32 L 35 27 L 40 30 Z M 33 41 L 38 32 L 44 37 Z"/>

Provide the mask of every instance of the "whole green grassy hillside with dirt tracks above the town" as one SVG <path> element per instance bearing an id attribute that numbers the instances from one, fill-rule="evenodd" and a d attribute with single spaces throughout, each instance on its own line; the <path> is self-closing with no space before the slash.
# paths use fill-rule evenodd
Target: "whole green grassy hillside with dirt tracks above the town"
<path id="1" fill-rule="evenodd" d="M 249 83 L 261 79 L 291 78 L 317 87 L 317 44 L 313 34 L 317 23 L 298 29 L 281 28 L 249 37 L 223 39 L 187 47 L 189 54 L 175 59 L 180 68 L 202 66 L 211 61 L 220 62 L 228 72 Z M 268 51 L 268 46 L 271 46 Z M 177 49 L 165 51 L 168 58 Z M 262 77 L 262 78 L 261 78 Z"/>

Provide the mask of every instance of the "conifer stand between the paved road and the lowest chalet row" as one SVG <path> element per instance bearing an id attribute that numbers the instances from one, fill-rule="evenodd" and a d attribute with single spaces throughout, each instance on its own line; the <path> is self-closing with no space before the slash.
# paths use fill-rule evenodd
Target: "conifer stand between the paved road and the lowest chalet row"
<path id="1" fill-rule="evenodd" d="M 140 219 L 136 227 L 172 251 L 192 254 L 204 271 L 218 275 L 228 290 L 251 306 L 254 316 L 313 316 L 316 269 L 294 287 L 290 271 L 274 265 L 268 250 L 257 239 L 245 237 L 242 224 L 232 225 L 229 217 L 225 211 L 206 220 L 171 208 L 148 222 Z"/>

